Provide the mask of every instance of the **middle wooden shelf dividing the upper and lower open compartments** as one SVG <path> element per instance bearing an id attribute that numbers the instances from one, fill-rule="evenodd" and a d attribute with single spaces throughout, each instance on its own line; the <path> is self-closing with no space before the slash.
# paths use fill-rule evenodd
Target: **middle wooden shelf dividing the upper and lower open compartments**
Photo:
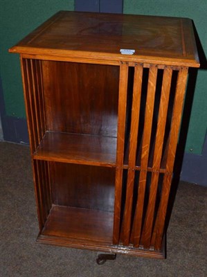
<path id="1" fill-rule="evenodd" d="M 115 167 L 116 141 L 116 138 L 107 136 L 46 132 L 33 158 Z"/>

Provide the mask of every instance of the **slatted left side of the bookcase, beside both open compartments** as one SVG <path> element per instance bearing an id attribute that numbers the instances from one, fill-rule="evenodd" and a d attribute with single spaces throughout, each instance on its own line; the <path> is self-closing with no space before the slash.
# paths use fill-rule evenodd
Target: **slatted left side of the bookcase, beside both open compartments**
<path id="1" fill-rule="evenodd" d="M 21 73 L 24 84 L 30 152 L 33 157 L 33 153 L 46 132 L 41 61 L 21 57 Z M 48 181 L 46 181 L 49 179 L 49 163 L 47 161 L 33 161 L 33 178 L 35 181 L 39 229 L 41 230 L 52 205 L 51 188 Z"/>

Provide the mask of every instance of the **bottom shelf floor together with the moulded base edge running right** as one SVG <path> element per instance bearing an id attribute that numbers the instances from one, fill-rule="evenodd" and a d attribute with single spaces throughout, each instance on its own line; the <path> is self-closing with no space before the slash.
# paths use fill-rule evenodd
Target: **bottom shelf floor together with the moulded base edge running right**
<path id="1" fill-rule="evenodd" d="M 113 222 L 113 213 L 53 205 L 37 242 L 145 258 L 165 258 L 164 244 L 161 251 L 112 244 Z"/>

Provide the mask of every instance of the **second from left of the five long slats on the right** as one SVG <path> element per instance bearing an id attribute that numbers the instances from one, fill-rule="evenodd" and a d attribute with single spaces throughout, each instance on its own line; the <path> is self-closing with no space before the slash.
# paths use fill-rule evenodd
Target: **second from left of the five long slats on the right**
<path id="1" fill-rule="evenodd" d="M 138 136 L 138 121 L 141 103 L 141 87 L 143 78 L 143 66 L 136 64 L 134 67 L 134 87 L 132 99 L 132 120 L 129 136 L 129 169 L 127 172 L 127 194 L 125 201 L 125 213 L 123 217 L 122 242 L 124 245 L 129 245 L 129 235 L 131 226 L 132 214 L 132 199 L 134 188 L 134 175 L 136 163 L 136 147 Z"/>

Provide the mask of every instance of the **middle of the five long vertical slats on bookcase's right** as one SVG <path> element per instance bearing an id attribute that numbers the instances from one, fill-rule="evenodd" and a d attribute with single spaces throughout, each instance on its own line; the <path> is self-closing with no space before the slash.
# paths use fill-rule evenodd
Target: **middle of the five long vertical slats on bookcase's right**
<path id="1" fill-rule="evenodd" d="M 156 65 L 150 66 L 150 73 L 147 85 L 147 101 L 145 108 L 145 124 L 143 130 L 143 145 L 141 152 L 141 172 L 138 184 L 138 199 L 136 203 L 136 212 L 134 216 L 133 234 L 134 247 L 138 247 L 141 238 L 141 226 L 143 220 L 143 204 L 145 199 L 145 186 L 147 179 L 147 163 L 150 151 L 150 137 L 152 132 L 152 116 L 154 110 L 154 96 L 156 91 Z"/>

